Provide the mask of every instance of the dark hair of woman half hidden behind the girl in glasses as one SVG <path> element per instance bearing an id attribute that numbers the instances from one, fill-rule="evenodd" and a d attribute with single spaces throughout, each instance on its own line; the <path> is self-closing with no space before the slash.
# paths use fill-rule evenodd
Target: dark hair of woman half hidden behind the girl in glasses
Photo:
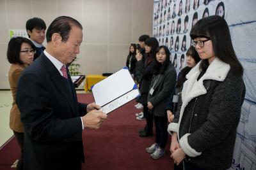
<path id="1" fill-rule="evenodd" d="M 201 60 L 194 46 L 190 46 L 188 48 L 186 55 L 191 55 L 195 60 L 196 64 Z M 180 71 L 179 76 L 177 78 L 176 87 L 182 87 L 183 83 L 186 81 L 186 74 L 188 74 L 191 69 L 192 67 L 186 66 L 184 67 L 184 69 Z"/>

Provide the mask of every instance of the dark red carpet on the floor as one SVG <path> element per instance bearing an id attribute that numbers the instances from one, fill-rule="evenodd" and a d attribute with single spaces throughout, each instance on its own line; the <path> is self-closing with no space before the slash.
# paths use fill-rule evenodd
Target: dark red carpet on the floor
<path id="1" fill-rule="evenodd" d="M 92 94 L 77 94 L 82 103 L 92 103 Z M 83 132 L 86 170 L 125 170 L 125 169 L 161 169 L 172 170 L 170 159 L 170 140 L 166 146 L 166 155 L 158 160 L 150 158 L 145 148 L 154 143 L 154 136 L 140 138 L 138 130 L 145 121 L 136 120 L 134 101 L 109 113 L 108 119 L 98 130 L 86 129 Z M 10 166 L 19 158 L 19 146 L 15 138 L 0 150 L 0 170 L 13 169 Z"/>

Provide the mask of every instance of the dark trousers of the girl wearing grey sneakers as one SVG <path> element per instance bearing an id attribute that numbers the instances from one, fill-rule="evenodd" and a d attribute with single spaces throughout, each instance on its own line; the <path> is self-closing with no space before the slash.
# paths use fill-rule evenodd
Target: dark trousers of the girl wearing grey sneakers
<path id="1" fill-rule="evenodd" d="M 161 148 L 165 148 L 168 132 L 167 132 L 167 115 L 164 117 L 154 116 L 155 126 L 156 126 L 156 143 L 159 143 Z"/>

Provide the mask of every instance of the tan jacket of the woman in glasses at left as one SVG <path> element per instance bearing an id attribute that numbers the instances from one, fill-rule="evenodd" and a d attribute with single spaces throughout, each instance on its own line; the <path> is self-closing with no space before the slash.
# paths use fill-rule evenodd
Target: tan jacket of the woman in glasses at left
<path id="1" fill-rule="evenodd" d="M 24 64 L 11 64 L 8 73 L 10 89 L 12 91 L 12 108 L 10 111 L 10 128 L 15 132 L 24 132 L 23 124 L 20 122 L 20 111 L 15 102 L 17 84 L 20 74 L 26 66 Z"/>

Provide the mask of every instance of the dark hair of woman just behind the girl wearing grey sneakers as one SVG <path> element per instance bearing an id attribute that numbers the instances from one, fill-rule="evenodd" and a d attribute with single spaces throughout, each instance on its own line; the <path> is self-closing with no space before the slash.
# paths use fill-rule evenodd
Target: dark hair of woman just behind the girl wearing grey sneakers
<path id="1" fill-rule="evenodd" d="M 159 43 L 156 38 L 150 37 L 145 41 L 145 45 L 150 46 L 150 52 L 145 53 L 147 56 L 146 62 L 147 64 L 152 60 L 156 59 L 156 49 L 159 46 Z"/>

